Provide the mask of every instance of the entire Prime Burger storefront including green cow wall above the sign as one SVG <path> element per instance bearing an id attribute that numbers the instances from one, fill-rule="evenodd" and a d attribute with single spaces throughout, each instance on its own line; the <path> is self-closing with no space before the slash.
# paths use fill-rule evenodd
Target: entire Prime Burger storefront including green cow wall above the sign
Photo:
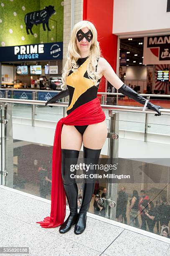
<path id="1" fill-rule="evenodd" d="M 5 1 L 0 31 L 1 88 L 60 89 L 63 1 Z"/>

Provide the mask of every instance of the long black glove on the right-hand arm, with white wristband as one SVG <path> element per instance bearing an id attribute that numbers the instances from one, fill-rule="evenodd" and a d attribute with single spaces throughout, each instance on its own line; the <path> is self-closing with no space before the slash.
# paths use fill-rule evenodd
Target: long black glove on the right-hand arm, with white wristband
<path id="1" fill-rule="evenodd" d="M 141 104 L 145 105 L 146 99 L 140 96 L 137 92 L 135 92 L 131 87 L 127 86 L 126 84 L 123 84 L 118 89 L 118 91 L 121 92 L 123 95 L 126 95 L 129 98 L 132 98 L 133 100 L 136 100 L 137 102 L 140 102 Z M 159 110 L 159 108 L 162 108 L 161 106 L 154 105 L 148 101 L 147 108 L 156 111 L 158 114 L 155 114 L 155 115 L 161 115 Z"/>

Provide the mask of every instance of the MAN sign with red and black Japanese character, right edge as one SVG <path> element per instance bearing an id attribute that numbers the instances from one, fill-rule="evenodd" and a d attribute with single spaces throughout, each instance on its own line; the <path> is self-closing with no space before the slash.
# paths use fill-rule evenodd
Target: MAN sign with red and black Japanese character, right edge
<path id="1" fill-rule="evenodd" d="M 170 64 L 170 35 L 144 38 L 143 64 Z"/>

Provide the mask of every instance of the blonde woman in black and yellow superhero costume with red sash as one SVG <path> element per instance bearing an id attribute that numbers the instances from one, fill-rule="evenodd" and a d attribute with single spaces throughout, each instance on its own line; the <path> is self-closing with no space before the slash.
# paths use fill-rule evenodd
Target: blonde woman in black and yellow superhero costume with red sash
<path id="1" fill-rule="evenodd" d="M 66 115 L 56 125 L 53 145 L 51 215 L 38 222 L 43 228 L 61 225 L 59 232 L 66 233 L 72 225 L 76 224 L 75 234 L 81 234 L 86 228 L 86 213 L 94 192 L 95 179 L 91 179 L 90 182 L 84 179 L 83 199 L 78 213 L 78 189 L 75 179 L 69 175 L 69 166 L 77 164 L 82 143 L 84 163 L 98 163 L 101 148 L 107 138 L 106 116 L 97 98 L 102 76 L 124 95 L 145 104 L 146 99 L 124 84 L 107 60 L 101 57 L 96 28 L 91 22 L 82 20 L 75 24 L 71 32 L 67 61 L 62 74 L 62 89 L 64 87 L 66 89 L 46 102 L 47 105 L 69 95 Z M 155 110 L 158 113 L 156 115 L 160 115 L 160 106 L 148 102 L 147 107 Z M 95 173 L 95 170 L 90 169 L 90 173 Z M 64 222 L 66 197 L 70 214 Z"/>

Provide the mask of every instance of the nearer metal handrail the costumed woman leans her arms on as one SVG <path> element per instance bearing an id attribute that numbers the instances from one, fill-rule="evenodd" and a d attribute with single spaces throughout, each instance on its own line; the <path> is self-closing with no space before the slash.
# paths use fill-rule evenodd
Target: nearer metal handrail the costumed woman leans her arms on
<path id="1" fill-rule="evenodd" d="M 9 102 L 9 103 L 20 103 L 20 104 L 30 104 L 30 105 L 45 105 L 45 100 L 21 100 L 21 99 L 8 99 L 8 98 L 0 98 L 1 102 Z M 60 106 L 60 107 L 68 107 L 68 102 L 56 102 L 48 104 L 48 106 Z M 150 109 L 145 109 L 143 111 L 143 107 L 132 107 L 132 106 L 119 106 L 119 105 L 101 105 L 103 110 L 117 110 L 117 111 L 127 111 L 127 112 L 136 112 L 136 113 L 153 113 L 156 112 Z M 160 109 L 161 114 L 170 115 L 170 109 Z"/>

